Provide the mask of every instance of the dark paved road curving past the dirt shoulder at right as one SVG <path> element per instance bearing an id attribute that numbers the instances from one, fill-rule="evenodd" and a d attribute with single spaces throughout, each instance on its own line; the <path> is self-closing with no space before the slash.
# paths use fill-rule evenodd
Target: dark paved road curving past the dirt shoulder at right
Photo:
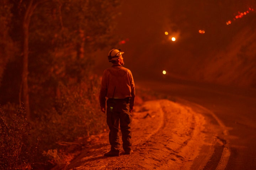
<path id="1" fill-rule="evenodd" d="M 222 154 L 222 157 L 226 156 L 222 168 L 256 169 L 255 89 L 196 83 L 170 77 L 159 80 L 138 79 L 136 82 L 140 86 L 168 94 L 177 100 L 184 99 L 209 109 L 225 129 L 221 140 L 226 143 L 226 148 L 222 148 L 220 152 L 224 153 L 225 149 L 228 152 Z M 227 153 L 228 155 L 225 155 Z M 219 159 L 214 162 L 213 157 L 204 169 L 216 169 L 217 165 L 210 164 L 217 164 L 218 161 Z"/>

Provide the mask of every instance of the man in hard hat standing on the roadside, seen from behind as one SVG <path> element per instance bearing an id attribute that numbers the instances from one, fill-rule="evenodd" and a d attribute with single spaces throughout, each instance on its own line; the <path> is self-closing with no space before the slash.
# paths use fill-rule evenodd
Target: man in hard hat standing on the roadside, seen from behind
<path id="1" fill-rule="evenodd" d="M 113 65 L 104 70 L 101 81 L 100 107 L 103 113 L 107 113 L 107 125 L 110 129 L 111 149 L 104 154 L 106 157 L 119 156 L 119 123 L 124 154 L 130 155 L 133 152 L 130 125 L 132 123 L 131 112 L 134 106 L 135 86 L 132 72 L 123 67 L 123 53 L 118 49 L 110 50 L 108 61 Z"/>

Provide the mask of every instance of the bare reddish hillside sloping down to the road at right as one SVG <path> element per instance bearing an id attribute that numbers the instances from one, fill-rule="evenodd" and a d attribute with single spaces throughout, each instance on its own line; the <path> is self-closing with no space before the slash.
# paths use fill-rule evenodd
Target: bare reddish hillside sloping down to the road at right
<path id="1" fill-rule="evenodd" d="M 225 51 L 210 53 L 197 63 L 189 75 L 192 79 L 212 83 L 256 88 L 256 32 L 246 27 Z M 196 71 L 197 69 L 198 71 Z"/>

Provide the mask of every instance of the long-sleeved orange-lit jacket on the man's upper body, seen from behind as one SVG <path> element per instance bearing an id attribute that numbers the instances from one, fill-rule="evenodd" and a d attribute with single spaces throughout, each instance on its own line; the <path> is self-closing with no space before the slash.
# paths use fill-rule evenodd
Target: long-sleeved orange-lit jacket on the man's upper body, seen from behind
<path id="1" fill-rule="evenodd" d="M 135 86 L 132 72 L 119 64 L 104 70 L 100 90 L 100 106 L 105 107 L 107 98 L 130 97 L 130 107 L 134 106 Z"/>

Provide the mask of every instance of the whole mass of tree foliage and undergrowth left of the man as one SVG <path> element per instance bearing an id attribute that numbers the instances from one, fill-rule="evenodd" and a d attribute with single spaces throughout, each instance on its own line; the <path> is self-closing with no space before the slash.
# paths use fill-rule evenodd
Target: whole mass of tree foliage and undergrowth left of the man
<path id="1" fill-rule="evenodd" d="M 14 63 L 22 62 L 23 53 L 17 54 L 17 51 L 23 51 L 22 22 L 29 2 L 32 1 L 4 0 L 4 5 L 0 5 L 3 26 L 0 37 L 4 37 L 0 39 L 0 50 L 6 52 L 3 54 L 7 58 L 15 55 L 12 57 Z M 100 78 L 91 70 L 94 64 L 91 56 L 97 49 L 116 42 L 112 31 L 119 0 L 42 0 L 33 3 L 36 10 L 29 23 L 28 49 L 32 119 L 28 122 L 24 108 L 16 112 L 16 104 L 2 106 L 0 147 L 4 157 L 0 158 L 0 168 L 3 169 L 46 168 L 49 162 L 62 164 L 62 159 L 68 160 L 71 156 L 61 151 L 59 142 L 72 142 L 100 133 L 107 127 L 105 115 L 98 106 Z M 8 61 L 0 59 L 0 66 L 4 62 Z M 21 88 L 17 78 L 20 72 L 7 66 L 5 70 L 0 67 L 0 78 L 2 74 L 8 75 L 6 85 L 1 85 L 7 90 L 1 89 L 1 95 L 17 98 L 13 88 Z M 22 64 L 17 67 L 21 70 Z M 11 86 L 8 86 L 9 81 Z M 12 93 L 6 95 L 7 91 Z M 11 148 L 11 144 L 14 147 Z M 8 154 L 11 149 L 15 154 Z"/>

